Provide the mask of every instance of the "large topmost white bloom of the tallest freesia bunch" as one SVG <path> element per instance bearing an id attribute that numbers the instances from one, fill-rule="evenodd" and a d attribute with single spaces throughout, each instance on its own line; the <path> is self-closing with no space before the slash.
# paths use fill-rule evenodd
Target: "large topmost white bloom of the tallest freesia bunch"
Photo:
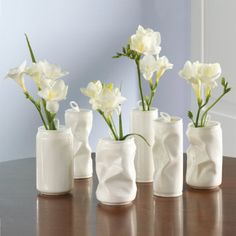
<path id="1" fill-rule="evenodd" d="M 136 34 L 130 38 L 130 48 L 136 52 L 148 55 L 158 55 L 161 51 L 161 35 L 152 29 L 138 26 Z"/>

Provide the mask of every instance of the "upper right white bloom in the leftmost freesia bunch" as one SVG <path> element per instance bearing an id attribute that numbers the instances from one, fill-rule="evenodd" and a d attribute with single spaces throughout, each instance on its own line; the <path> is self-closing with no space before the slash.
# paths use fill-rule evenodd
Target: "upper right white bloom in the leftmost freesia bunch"
<path id="1" fill-rule="evenodd" d="M 68 74 L 68 72 L 63 71 L 61 67 L 50 64 L 47 61 L 40 61 L 38 64 L 41 67 L 43 75 L 46 79 L 56 80 Z"/>

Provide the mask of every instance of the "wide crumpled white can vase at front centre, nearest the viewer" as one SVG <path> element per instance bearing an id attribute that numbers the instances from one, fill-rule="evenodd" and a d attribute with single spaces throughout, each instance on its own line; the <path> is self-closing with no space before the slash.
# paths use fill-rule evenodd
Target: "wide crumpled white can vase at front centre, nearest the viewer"
<path id="1" fill-rule="evenodd" d="M 124 205 L 136 197 L 134 138 L 100 139 L 96 151 L 97 199 L 106 205 Z"/>

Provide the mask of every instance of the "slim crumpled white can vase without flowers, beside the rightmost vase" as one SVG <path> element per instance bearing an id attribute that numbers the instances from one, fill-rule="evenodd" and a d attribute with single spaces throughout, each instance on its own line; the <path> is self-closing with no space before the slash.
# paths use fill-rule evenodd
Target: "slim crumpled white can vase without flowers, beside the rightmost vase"
<path id="1" fill-rule="evenodd" d="M 177 197 L 183 191 L 183 122 L 179 117 L 154 121 L 154 195 Z"/>

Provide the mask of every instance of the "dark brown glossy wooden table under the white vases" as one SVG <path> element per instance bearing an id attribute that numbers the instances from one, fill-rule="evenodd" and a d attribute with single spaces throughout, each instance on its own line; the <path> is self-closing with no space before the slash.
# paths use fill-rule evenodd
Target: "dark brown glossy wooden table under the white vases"
<path id="1" fill-rule="evenodd" d="M 71 195 L 37 196 L 35 159 L 0 164 L 1 236 L 234 236 L 236 159 L 224 158 L 223 184 L 214 191 L 184 186 L 182 197 L 153 197 L 138 184 L 134 204 L 108 207 L 95 198 L 96 177 L 75 181 Z"/>

